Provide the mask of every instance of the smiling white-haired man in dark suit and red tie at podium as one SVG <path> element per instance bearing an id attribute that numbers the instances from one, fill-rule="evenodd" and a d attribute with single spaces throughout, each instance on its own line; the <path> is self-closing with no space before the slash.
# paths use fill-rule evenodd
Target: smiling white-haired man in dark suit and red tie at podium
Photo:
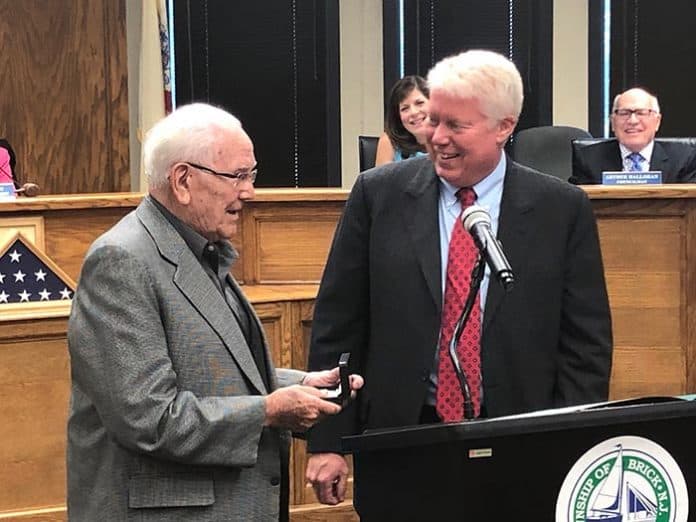
<path id="1" fill-rule="evenodd" d="M 309 435 L 307 478 L 328 504 L 345 496 L 341 436 L 443 418 L 438 380 L 449 359 L 438 340 L 451 284 L 449 241 L 462 234 L 460 189 L 473 189 L 490 213 L 516 276 L 508 293 L 489 277 L 481 287 L 482 319 L 472 325 L 481 333 L 479 367 L 472 363 L 481 415 L 608 395 L 611 320 L 590 202 L 581 189 L 503 152 L 522 108 L 519 72 L 499 54 L 469 51 L 437 64 L 428 82 L 430 158 L 360 175 L 317 297 L 310 368 L 351 352 L 365 377 L 355 404 Z M 356 471 L 358 511 L 360 473 L 369 470 Z"/>

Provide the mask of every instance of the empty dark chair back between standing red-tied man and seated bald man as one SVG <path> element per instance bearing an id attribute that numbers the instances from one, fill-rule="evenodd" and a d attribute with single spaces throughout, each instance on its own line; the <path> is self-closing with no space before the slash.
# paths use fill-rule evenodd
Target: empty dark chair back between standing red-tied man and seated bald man
<path id="1" fill-rule="evenodd" d="M 562 125 L 532 127 L 518 132 L 510 154 L 517 163 L 567 180 L 573 171 L 573 140 L 592 138 L 584 129 Z"/>

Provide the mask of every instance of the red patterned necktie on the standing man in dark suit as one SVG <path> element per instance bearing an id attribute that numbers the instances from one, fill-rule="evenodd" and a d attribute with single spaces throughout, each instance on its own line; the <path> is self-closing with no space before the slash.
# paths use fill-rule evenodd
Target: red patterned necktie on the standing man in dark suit
<path id="1" fill-rule="evenodd" d="M 472 188 L 457 191 L 462 210 L 474 204 L 476 193 Z M 437 372 L 437 399 L 435 407 L 444 422 L 460 421 L 464 418 L 464 398 L 459 380 L 449 355 L 449 344 L 454 327 L 464 308 L 469 292 L 471 271 L 476 264 L 478 249 L 471 234 L 464 229 L 461 215 L 454 223 L 447 256 L 447 278 L 445 281 L 445 302 L 442 306 L 442 325 L 440 327 L 439 364 Z M 460 366 L 466 375 L 474 415 L 481 410 L 481 306 L 479 295 L 469 315 L 457 344 Z"/>

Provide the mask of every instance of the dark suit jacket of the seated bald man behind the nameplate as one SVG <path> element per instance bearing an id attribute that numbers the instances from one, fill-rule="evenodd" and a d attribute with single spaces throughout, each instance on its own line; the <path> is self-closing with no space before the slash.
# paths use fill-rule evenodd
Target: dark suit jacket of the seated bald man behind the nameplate
<path id="1" fill-rule="evenodd" d="M 578 147 L 573 151 L 573 175 L 576 185 L 602 183 L 603 171 L 622 171 L 621 149 L 616 139 Z M 696 147 L 686 143 L 655 142 L 650 170 L 662 172 L 663 183 L 696 181 Z"/>

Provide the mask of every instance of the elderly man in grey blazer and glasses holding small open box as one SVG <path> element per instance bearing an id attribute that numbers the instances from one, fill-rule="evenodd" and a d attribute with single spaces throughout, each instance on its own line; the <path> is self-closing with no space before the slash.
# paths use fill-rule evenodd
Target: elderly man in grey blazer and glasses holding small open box
<path id="1" fill-rule="evenodd" d="M 253 145 L 204 104 L 144 144 L 149 195 L 91 246 L 68 328 L 70 520 L 285 520 L 290 430 L 338 369 L 274 369 L 230 275 Z M 352 387 L 362 386 L 353 376 Z"/>

